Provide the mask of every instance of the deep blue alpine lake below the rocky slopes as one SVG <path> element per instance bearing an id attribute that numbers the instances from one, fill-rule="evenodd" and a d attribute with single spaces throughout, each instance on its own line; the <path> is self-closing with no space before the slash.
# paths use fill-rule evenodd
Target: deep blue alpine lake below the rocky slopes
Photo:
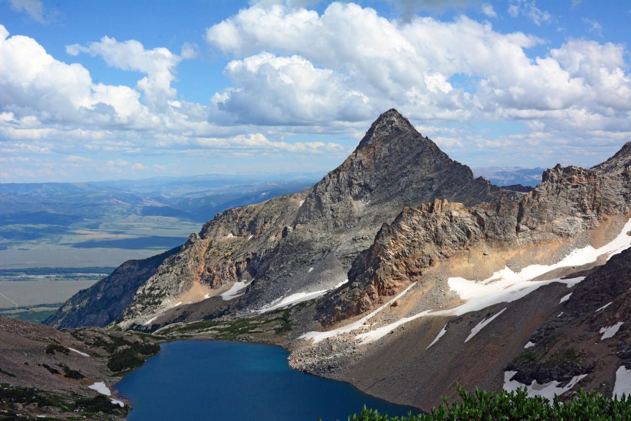
<path id="1" fill-rule="evenodd" d="M 287 351 L 273 345 L 175 341 L 161 348 L 115 386 L 133 402 L 130 421 L 335 421 L 363 405 L 399 416 L 411 409 L 295 371 Z"/>

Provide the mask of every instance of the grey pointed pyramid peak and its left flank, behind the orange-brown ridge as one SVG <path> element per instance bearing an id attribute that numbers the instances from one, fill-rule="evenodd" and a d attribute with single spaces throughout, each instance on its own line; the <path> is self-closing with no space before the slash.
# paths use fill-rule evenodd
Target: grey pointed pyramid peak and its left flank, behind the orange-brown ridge
<path id="1" fill-rule="evenodd" d="M 350 157 L 315 186 L 227 210 L 204 224 L 141 285 L 124 311 L 123 326 L 179 302 L 213 297 L 234 282 L 250 282 L 233 305 L 237 311 L 260 309 L 287 292 L 331 288 L 345 280 L 353 259 L 404 206 L 434 198 L 473 205 L 502 192 L 474 179 L 466 165 L 389 110 Z"/>

